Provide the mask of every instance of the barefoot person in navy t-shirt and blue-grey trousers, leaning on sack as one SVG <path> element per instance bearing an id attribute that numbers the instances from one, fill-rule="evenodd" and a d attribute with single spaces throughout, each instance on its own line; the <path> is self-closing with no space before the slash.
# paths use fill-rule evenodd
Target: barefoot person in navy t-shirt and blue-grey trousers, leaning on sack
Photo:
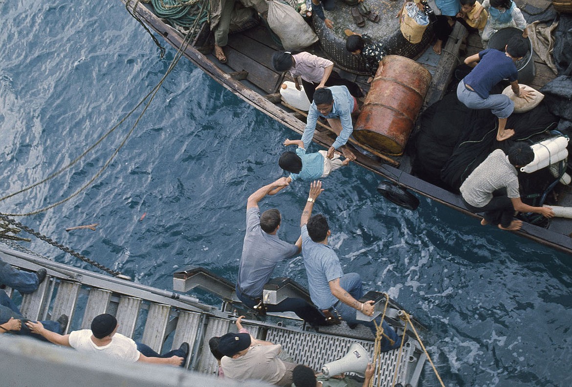
<path id="1" fill-rule="evenodd" d="M 518 71 L 515 62 L 526 55 L 529 47 L 521 37 L 510 39 L 506 52 L 486 49 L 464 60 L 466 65 L 478 63 L 471 72 L 461 79 L 457 86 L 457 98 L 469 109 L 491 109 L 498 117 L 497 141 L 514 135 L 513 129 L 505 129 L 507 118 L 513 113 L 514 102 L 504 94 L 490 95 L 492 87 L 508 78 L 514 94 L 525 98 L 533 97 L 533 91 L 521 89 L 518 85 Z"/>

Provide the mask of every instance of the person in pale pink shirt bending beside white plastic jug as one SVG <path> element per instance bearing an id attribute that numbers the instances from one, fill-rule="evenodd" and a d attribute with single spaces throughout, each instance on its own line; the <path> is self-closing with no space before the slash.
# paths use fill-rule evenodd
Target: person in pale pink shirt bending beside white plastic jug
<path id="1" fill-rule="evenodd" d="M 297 90 L 300 90 L 298 78 L 302 79 L 304 93 L 308 96 L 308 101 L 314 99 L 314 91 L 320 87 L 343 85 L 348 88 L 349 94 L 353 97 L 363 97 L 360 87 L 348 79 L 340 77 L 340 74 L 333 71 L 333 62 L 325 58 L 317 57 L 305 51 L 301 53 L 289 53 L 283 51 L 272 55 L 272 67 L 276 71 L 289 71 Z"/>

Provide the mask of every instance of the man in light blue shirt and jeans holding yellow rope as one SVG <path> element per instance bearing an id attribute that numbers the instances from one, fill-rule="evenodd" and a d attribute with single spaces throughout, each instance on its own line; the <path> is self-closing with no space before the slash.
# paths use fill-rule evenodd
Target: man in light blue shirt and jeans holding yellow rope
<path id="1" fill-rule="evenodd" d="M 370 328 L 375 335 L 375 325 L 381 324 L 383 337 L 380 351 L 399 348 L 402 338 L 381 316 L 372 321 L 356 318 L 358 310 L 366 316 L 373 316 L 374 301 L 358 301 L 364 295 L 362 278 L 358 273 L 344 274 L 339 258 L 328 246 L 328 238 L 331 235 L 328 221 L 321 214 L 312 216 L 313 206 L 322 191 L 321 181 L 311 183 L 308 200 L 300 218 L 302 256 L 312 302 L 327 318 L 334 321 L 341 319 L 347 322 L 349 328 L 362 324 Z"/>

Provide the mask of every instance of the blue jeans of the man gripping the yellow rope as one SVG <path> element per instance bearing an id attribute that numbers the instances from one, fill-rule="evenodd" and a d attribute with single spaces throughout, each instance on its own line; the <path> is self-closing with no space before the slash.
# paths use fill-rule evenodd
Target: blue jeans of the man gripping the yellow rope
<path id="1" fill-rule="evenodd" d="M 358 273 L 344 274 L 344 276 L 340 278 L 340 286 L 356 300 L 359 300 L 363 297 L 362 278 Z M 377 322 L 378 325 L 381 322 L 383 327 L 383 339 L 380 349 L 381 352 L 387 352 L 388 350 L 399 348 L 399 345 L 401 345 L 401 338 L 398 336 L 395 330 L 391 328 L 389 324 L 387 324 L 386 321 L 382 321 L 382 316 L 378 316 L 375 318 L 375 320 L 372 321 L 357 320 L 357 311 L 351 306 L 345 305 L 341 301 L 337 303 L 335 309 L 349 326 L 355 324 L 365 325 L 371 329 L 371 332 L 373 332 L 374 335 L 376 334 L 374 321 Z"/>

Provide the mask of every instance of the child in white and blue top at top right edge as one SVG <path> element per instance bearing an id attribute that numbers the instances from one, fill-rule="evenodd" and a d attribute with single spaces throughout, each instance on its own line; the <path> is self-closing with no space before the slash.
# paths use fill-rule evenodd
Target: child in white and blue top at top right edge
<path id="1" fill-rule="evenodd" d="M 527 38 L 526 20 L 522 11 L 512 0 L 484 0 L 482 5 L 475 11 L 473 19 L 476 21 L 483 10 L 488 11 L 487 24 L 484 26 L 483 39 L 486 47 L 492 34 L 506 27 L 517 27 L 522 30 L 522 37 Z"/>

